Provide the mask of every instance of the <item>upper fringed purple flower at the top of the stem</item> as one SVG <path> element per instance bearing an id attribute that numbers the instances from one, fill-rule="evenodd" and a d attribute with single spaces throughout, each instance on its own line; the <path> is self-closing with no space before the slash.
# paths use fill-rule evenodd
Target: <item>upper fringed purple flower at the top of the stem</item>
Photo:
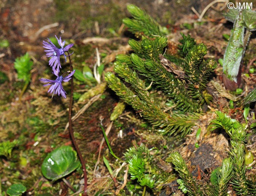
<path id="1" fill-rule="evenodd" d="M 47 49 L 47 50 L 45 50 L 46 56 L 47 57 L 52 57 L 49 60 L 49 65 L 52 67 L 53 70 L 55 70 L 56 67 L 57 67 L 57 72 L 59 73 L 60 68 L 61 68 L 60 56 L 64 55 L 65 56 L 65 62 L 66 62 L 67 61 L 67 56 L 72 55 L 73 52 L 70 55 L 65 55 L 65 52 L 67 52 L 69 50 L 69 48 L 71 48 L 74 44 L 68 44 L 67 46 L 65 46 L 65 48 L 63 48 L 64 45 L 65 45 L 65 41 L 61 42 L 61 37 L 60 37 L 60 39 L 58 39 L 56 35 L 55 35 L 55 37 L 58 40 L 58 43 L 61 46 L 61 48 L 57 48 L 49 38 L 47 38 L 49 43 L 43 41 L 43 44 L 44 44 L 43 47 Z"/>

